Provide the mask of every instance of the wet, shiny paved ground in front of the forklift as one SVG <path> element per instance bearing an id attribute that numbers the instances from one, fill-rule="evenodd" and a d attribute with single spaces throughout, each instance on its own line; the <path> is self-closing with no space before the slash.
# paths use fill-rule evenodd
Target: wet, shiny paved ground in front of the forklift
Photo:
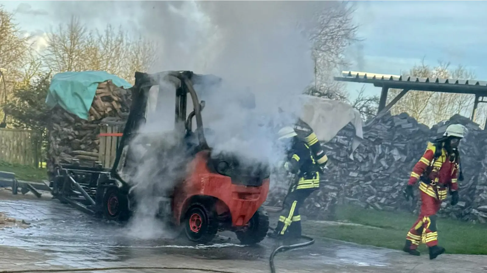
<path id="1" fill-rule="evenodd" d="M 128 264 L 148 257 L 182 257 L 183 260 L 191 258 L 208 262 L 232 260 L 250 264 L 252 261 L 265 272 L 268 270 L 267 259 L 274 247 L 271 239 L 264 239 L 253 247 L 242 246 L 229 232 L 222 233 L 210 245 L 171 239 L 172 234 L 166 239 L 161 236 L 147 238 L 146 235 L 153 233 L 157 226 L 144 224 L 139 225 L 138 229 L 129 229 L 86 215 L 57 200 L 5 199 L 4 194 L 0 196 L 0 212 L 31 224 L 23 229 L 12 227 L 0 230 L 0 244 L 42 255 L 44 258 L 37 263 L 38 266 L 103 267 L 107 263 Z M 161 230 L 164 230 L 163 226 Z M 378 272 L 379 268 L 389 268 L 394 257 L 400 254 L 388 249 L 325 240 L 310 247 L 280 253 L 276 263 L 286 261 L 299 269 L 310 268 L 311 265 L 313 268 L 365 266 Z M 405 265 L 405 269 L 411 268 Z"/>

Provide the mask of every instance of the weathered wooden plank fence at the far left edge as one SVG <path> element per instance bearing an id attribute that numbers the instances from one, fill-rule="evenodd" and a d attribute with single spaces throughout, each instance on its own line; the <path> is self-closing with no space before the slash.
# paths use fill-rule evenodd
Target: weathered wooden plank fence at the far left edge
<path id="1" fill-rule="evenodd" d="M 0 161 L 38 167 L 40 142 L 34 131 L 0 129 Z"/>

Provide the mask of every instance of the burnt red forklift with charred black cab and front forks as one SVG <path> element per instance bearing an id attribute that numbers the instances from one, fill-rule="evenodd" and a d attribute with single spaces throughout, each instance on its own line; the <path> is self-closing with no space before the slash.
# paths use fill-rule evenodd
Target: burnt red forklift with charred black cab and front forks
<path id="1" fill-rule="evenodd" d="M 206 143 L 201 116 L 205 102 L 198 100 L 193 85 L 216 82 L 212 75 L 191 71 L 136 72 L 130 114 L 113 167 L 60 164 L 52 178 L 53 195 L 82 211 L 116 221 L 137 213 L 140 193 L 158 195 L 158 204 L 152 204 L 158 206 L 157 215 L 181 227 L 191 241 L 209 242 L 223 230 L 235 232 L 243 244 L 262 241 L 269 227 L 261 209 L 269 190 L 269 167 L 247 166 L 234 155 L 214 154 Z M 152 102 L 155 87 L 156 102 Z M 168 92 L 176 95 L 174 129 L 164 135 L 143 130 L 150 105 L 155 103 L 157 113 Z M 189 114 L 188 94 L 193 108 Z M 147 162 L 156 162 L 157 170 L 145 170 Z M 147 187 L 137 180 L 153 181 Z"/>

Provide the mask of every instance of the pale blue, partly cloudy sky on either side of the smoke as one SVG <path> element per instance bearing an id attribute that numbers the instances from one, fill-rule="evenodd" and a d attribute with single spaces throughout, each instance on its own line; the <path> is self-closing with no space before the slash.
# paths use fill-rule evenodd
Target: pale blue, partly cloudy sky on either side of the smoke
<path id="1" fill-rule="evenodd" d="M 78 2 L 81 4 L 84 1 Z M 110 18 L 102 21 L 92 18 L 94 7 L 79 8 L 75 1 L 2 1 L 7 10 L 16 11 L 19 26 L 39 36 L 51 25 L 69 20 L 71 13 L 86 18 L 92 27 L 127 24 L 131 14 L 123 12 L 124 3 L 116 12 L 107 12 Z M 113 3 L 113 2 L 112 2 Z M 435 65 L 438 60 L 450 61 L 452 66 L 462 64 L 472 69 L 479 80 L 487 80 L 487 25 L 486 1 L 357 1 L 355 15 L 363 41 L 363 64 L 354 64 L 352 70 L 382 74 L 399 74 L 414 64 Z M 97 5 L 107 3 L 97 1 Z M 55 5 L 63 5 L 63 9 Z M 53 8 L 54 7 L 54 8 Z M 136 11 L 131 11 L 136 12 Z M 85 17 L 86 16 L 86 17 Z M 90 19 L 92 18 L 92 20 Z M 347 84 L 354 96 L 362 85 Z M 366 85 L 367 94 L 380 89 Z"/>

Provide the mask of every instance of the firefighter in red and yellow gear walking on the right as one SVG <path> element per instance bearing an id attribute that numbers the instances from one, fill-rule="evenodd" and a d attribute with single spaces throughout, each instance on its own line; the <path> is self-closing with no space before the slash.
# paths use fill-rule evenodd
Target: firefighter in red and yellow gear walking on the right
<path id="1" fill-rule="evenodd" d="M 406 236 L 404 251 L 411 255 L 420 255 L 417 247 L 421 242 L 428 246 L 430 259 L 445 252 L 445 248 L 438 246 L 436 213 L 443 200 L 447 198 L 448 191 L 451 195 L 451 205 L 458 203 L 457 180 L 459 175 L 462 176 L 458 145 L 464 134 L 462 125 L 448 126 L 442 138 L 428 143 L 425 153 L 412 169 L 404 194 L 406 198 L 412 198 L 412 187 L 419 180 L 421 209 L 418 219 Z"/>

